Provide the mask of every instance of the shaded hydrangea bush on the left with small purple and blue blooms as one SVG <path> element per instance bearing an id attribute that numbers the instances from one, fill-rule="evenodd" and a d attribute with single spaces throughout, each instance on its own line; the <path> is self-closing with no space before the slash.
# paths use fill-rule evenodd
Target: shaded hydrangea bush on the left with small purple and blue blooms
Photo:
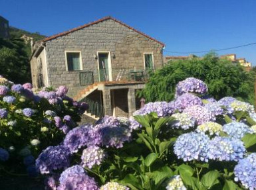
<path id="1" fill-rule="evenodd" d="M 35 93 L 31 83 L 14 84 L 0 77 L 0 171 L 38 173 L 35 158 L 62 142 L 87 109 L 86 103 L 73 101 L 67 92 L 61 86 Z"/>

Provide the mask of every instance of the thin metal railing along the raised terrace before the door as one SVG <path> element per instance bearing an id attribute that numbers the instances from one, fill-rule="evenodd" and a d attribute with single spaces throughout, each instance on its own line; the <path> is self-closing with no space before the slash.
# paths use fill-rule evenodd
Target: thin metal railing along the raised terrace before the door
<path id="1" fill-rule="evenodd" d="M 146 81 L 152 70 L 139 70 L 136 68 L 112 68 L 98 71 L 100 81 Z M 112 79 L 111 79 L 112 77 Z"/>

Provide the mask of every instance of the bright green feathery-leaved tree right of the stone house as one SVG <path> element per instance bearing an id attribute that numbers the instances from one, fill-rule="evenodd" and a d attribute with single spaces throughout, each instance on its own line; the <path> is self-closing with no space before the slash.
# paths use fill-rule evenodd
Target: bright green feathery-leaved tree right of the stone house
<path id="1" fill-rule="evenodd" d="M 239 64 L 219 59 L 214 53 L 203 58 L 168 62 L 164 68 L 152 73 L 138 96 L 146 101 L 171 101 L 176 84 L 187 77 L 203 80 L 209 95 L 215 99 L 233 96 L 254 105 L 255 72 L 247 72 Z"/>

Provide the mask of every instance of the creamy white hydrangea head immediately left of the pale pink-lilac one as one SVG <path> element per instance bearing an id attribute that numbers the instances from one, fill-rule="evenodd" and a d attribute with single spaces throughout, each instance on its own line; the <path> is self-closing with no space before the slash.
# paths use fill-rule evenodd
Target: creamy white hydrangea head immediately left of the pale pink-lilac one
<path id="1" fill-rule="evenodd" d="M 195 120 L 187 113 L 175 113 L 172 117 L 175 118 L 174 121 L 169 123 L 172 128 L 182 128 L 187 130 L 195 126 Z"/>

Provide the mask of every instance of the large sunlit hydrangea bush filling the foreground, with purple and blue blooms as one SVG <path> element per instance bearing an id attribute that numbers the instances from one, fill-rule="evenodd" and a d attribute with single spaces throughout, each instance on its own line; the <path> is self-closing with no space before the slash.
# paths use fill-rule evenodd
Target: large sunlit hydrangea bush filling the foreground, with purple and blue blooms
<path id="1" fill-rule="evenodd" d="M 46 187 L 256 189 L 253 106 L 232 97 L 205 99 L 207 86 L 199 79 L 186 79 L 176 89 L 170 103 L 148 103 L 129 119 L 105 116 L 70 129 L 35 160 Z M 40 96 L 49 104 L 56 99 L 53 93 Z M 69 117 L 55 113 L 45 115 L 57 129 L 68 126 Z M 9 154 L 0 149 L 0 162 Z M 29 156 L 29 149 L 22 154 Z"/>

